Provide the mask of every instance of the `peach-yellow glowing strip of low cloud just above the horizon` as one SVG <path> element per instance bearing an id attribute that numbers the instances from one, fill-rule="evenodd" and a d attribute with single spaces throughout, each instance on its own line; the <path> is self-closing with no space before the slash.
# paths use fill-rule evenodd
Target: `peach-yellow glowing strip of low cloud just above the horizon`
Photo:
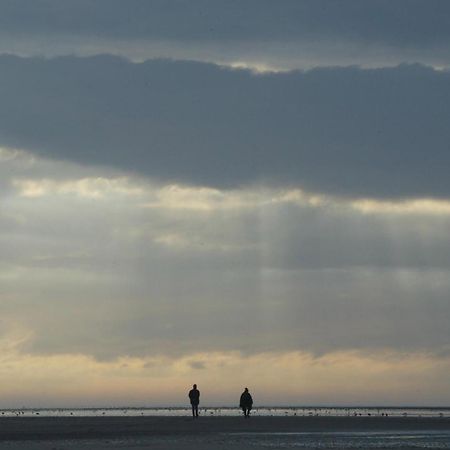
<path id="1" fill-rule="evenodd" d="M 208 370 L 192 367 L 196 358 L 207 360 Z M 257 407 L 446 406 L 449 400 L 449 358 L 420 352 L 333 352 L 319 358 L 306 352 L 208 352 L 95 361 L 83 355 L 22 355 L 10 349 L 2 351 L 1 362 L 0 393 L 10 408 L 23 408 L 24 398 L 25 406 L 38 408 L 189 406 L 187 392 L 193 382 L 200 388 L 202 407 L 237 406 L 247 385 Z M 308 410 L 298 410 L 303 413 Z"/>

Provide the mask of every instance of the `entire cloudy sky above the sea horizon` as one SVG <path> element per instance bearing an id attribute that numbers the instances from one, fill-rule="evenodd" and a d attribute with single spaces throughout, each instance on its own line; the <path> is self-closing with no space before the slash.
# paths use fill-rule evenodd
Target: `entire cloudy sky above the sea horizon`
<path id="1" fill-rule="evenodd" d="M 0 0 L 0 407 L 448 406 L 449 21 Z"/>

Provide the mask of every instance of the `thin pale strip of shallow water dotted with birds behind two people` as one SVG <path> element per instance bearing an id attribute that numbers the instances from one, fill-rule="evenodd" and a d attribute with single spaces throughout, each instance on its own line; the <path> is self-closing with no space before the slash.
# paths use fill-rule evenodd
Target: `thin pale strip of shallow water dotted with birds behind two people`
<path id="1" fill-rule="evenodd" d="M 4 409 L 1 416 L 19 417 L 94 417 L 94 416 L 189 416 L 190 408 L 41 408 Z M 204 407 L 204 416 L 238 416 L 239 408 Z M 388 417 L 450 417 L 450 408 L 348 408 L 348 407 L 259 407 L 254 416 L 388 416 Z"/>

